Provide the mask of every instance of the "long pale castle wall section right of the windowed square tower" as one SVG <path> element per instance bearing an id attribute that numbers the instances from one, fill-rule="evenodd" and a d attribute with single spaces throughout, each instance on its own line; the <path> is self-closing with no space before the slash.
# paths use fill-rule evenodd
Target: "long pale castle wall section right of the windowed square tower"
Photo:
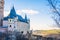
<path id="1" fill-rule="evenodd" d="M 17 30 L 20 31 L 20 32 L 24 32 L 24 34 L 27 33 L 27 31 L 29 31 L 29 28 L 28 28 L 28 24 L 27 23 L 24 23 L 24 22 L 18 22 L 17 24 Z"/>

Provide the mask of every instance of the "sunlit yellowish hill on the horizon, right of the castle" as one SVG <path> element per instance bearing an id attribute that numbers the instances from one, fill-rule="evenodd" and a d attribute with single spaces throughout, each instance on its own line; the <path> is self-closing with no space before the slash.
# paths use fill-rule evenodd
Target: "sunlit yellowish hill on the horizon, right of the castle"
<path id="1" fill-rule="evenodd" d="M 42 35 L 42 36 L 47 36 L 47 35 L 60 35 L 60 29 L 53 29 L 53 30 L 36 30 L 32 33 L 33 35 Z"/>

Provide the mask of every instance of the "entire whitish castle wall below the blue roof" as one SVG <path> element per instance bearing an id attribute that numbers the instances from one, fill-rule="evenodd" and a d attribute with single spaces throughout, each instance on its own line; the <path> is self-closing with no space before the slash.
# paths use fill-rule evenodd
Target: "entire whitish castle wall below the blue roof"
<path id="1" fill-rule="evenodd" d="M 16 26 L 16 28 L 10 28 L 9 26 L 12 25 L 13 27 Z M 8 26 L 8 30 L 14 31 L 17 30 L 19 32 L 24 32 L 23 34 L 26 34 L 27 31 L 29 31 L 29 24 L 28 23 L 24 23 L 24 22 L 20 22 L 20 21 L 15 21 L 13 23 L 10 24 L 10 22 L 8 21 L 3 21 L 3 26 Z"/>

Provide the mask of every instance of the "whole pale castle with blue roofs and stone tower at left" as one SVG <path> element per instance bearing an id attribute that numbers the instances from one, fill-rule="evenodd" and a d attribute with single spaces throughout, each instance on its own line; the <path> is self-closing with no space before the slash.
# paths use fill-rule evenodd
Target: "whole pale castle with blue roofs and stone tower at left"
<path id="1" fill-rule="evenodd" d="M 4 12 L 4 0 L 0 0 L 0 26 L 8 29 L 8 31 L 19 31 L 26 34 L 30 30 L 30 20 L 25 14 L 25 18 L 16 14 L 14 6 L 12 7 L 10 14 L 7 17 L 3 17 Z"/>

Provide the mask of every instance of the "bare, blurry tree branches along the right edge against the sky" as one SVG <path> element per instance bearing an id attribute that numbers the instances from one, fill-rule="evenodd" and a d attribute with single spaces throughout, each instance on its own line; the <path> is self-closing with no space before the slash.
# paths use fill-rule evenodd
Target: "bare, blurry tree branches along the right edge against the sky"
<path id="1" fill-rule="evenodd" d="M 52 11 L 52 12 L 54 12 L 54 13 L 56 13 L 55 15 L 57 16 L 57 18 L 55 18 L 56 16 L 54 16 L 54 17 L 52 17 L 53 18 L 53 20 L 56 22 L 56 24 L 57 24 L 57 26 L 58 27 L 60 27 L 60 12 L 58 11 L 58 10 L 60 10 L 60 9 L 58 9 L 57 10 L 57 3 L 59 2 L 58 0 L 47 0 L 48 1 L 48 3 L 50 4 L 50 6 L 52 7 L 52 9 L 54 10 L 54 11 Z M 55 3 L 54 3 L 55 2 Z M 54 4 L 56 4 L 56 5 L 54 5 Z M 59 7 L 58 7 L 59 8 Z"/>

